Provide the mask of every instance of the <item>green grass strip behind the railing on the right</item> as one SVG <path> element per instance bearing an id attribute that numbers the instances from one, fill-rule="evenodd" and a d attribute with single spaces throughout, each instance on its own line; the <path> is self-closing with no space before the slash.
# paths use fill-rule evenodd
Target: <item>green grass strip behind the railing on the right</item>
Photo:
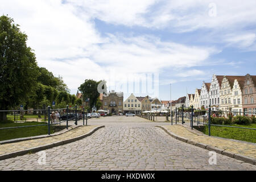
<path id="1" fill-rule="evenodd" d="M 228 125 L 227 125 L 228 126 Z M 250 127 L 256 129 L 256 124 L 251 125 L 230 125 L 238 127 Z M 208 126 L 200 126 L 197 130 L 208 135 Z M 222 126 L 210 126 L 210 135 L 221 138 L 229 138 L 236 140 L 243 140 L 246 142 L 256 143 L 256 130 L 249 129 L 236 129 L 232 127 L 222 127 Z"/>

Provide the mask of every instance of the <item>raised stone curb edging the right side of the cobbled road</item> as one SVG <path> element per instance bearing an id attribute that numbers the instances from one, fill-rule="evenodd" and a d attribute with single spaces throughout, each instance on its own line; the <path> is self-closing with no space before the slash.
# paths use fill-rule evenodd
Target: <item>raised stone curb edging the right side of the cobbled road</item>
<path id="1" fill-rule="evenodd" d="M 222 149 L 217 148 L 217 147 L 208 146 L 207 144 L 204 144 L 204 143 L 193 142 L 192 140 L 185 139 L 183 137 L 178 137 L 177 135 L 174 135 L 174 133 L 171 133 L 170 131 L 168 131 L 163 126 L 155 126 L 155 127 L 159 127 L 160 129 L 166 131 L 166 133 L 168 135 L 170 135 L 171 137 L 175 136 L 174 138 L 180 140 L 181 142 L 192 144 L 193 146 L 201 147 L 201 148 L 204 148 L 205 150 L 215 151 L 218 154 L 228 156 L 229 158 L 234 158 L 234 159 L 237 159 L 237 160 L 242 160 L 243 162 L 256 165 L 256 159 L 254 159 L 254 158 L 249 158 L 247 156 L 243 156 L 243 155 L 240 155 L 240 154 L 233 154 L 232 152 L 228 152 L 228 151 L 222 150 Z"/>

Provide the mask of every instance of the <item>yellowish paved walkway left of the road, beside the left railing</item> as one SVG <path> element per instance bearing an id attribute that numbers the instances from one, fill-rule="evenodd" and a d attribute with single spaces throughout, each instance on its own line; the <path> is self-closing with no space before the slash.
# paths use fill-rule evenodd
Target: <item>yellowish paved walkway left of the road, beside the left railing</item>
<path id="1" fill-rule="evenodd" d="M 45 144 L 59 142 L 60 140 L 64 140 L 64 139 L 79 137 L 82 134 L 88 133 L 90 130 L 94 129 L 95 127 L 96 126 L 76 127 L 73 130 L 67 131 L 64 134 L 56 135 L 54 137 L 47 137 L 47 138 L 40 138 L 40 139 L 25 140 L 22 142 L 1 144 L 0 145 L 0 155 L 7 154 L 10 152 L 20 151 L 20 150 L 26 150 L 28 148 L 43 146 Z"/>

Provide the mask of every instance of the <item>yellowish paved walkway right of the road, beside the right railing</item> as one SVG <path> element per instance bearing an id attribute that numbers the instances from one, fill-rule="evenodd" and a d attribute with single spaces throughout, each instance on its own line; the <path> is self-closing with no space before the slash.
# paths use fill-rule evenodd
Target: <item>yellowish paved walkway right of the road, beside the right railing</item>
<path id="1" fill-rule="evenodd" d="M 192 133 L 189 131 L 189 129 L 181 125 L 168 125 L 164 127 L 175 135 L 192 140 L 193 142 L 208 144 L 210 146 L 217 147 L 234 154 L 241 154 L 243 156 L 256 159 L 256 144 L 209 137 L 207 135 L 201 134 L 196 130 L 193 130 Z"/>

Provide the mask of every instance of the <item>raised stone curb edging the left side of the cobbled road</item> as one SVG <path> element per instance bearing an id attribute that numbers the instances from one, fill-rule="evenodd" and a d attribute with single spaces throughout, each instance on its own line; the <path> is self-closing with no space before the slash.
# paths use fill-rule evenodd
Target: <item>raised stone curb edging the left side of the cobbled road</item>
<path id="1" fill-rule="evenodd" d="M 89 137 L 90 135 L 92 135 L 94 132 L 96 132 L 98 129 L 101 129 L 102 127 L 105 127 L 105 126 L 95 127 L 94 129 L 90 130 L 88 133 L 86 133 L 84 135 L 80 135 L 75 138 L 65 139 L 65 140 L 61 140 L 58 142 L 45 144 L 43 146 L 38 146 L 38 147 L 28 148 L 28 149 L 21 150 L 21 151 L 15 151 L 15 152 L 7 153 L 7 154 L 2 154 L 2 155 L 0 155 L 0 160 L 14 158 L 14 157 L 20 156 L 20 155 L 26 155 L 26 154 L 28 154 L 28 152 L 38 152 L 41 150 L 47 150 L 52 147 L 61 146 L 63 144 L 72 143 L 72 142 L 75 142 L 76 140 L 80 140 L 82 138 Z"/>

